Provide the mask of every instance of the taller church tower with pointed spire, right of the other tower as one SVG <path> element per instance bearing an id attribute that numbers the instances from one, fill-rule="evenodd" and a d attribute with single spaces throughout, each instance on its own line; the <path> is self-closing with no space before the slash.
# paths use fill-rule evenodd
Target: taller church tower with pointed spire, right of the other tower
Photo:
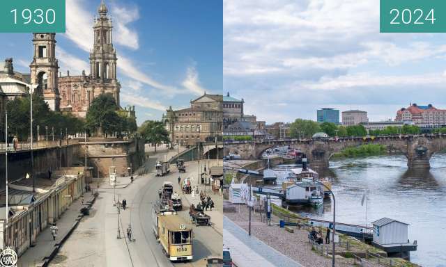
<path id="1" fill-rule="evenodd" d="M 121 84 L 116 77 L 116 49 L 113 47 L 112 19 L 107 16 L 108 8 L 104 0 L 98 9 L 99 17 L 93 26 L 94 42 L 90 54 L 91 92 L 93 99 L 102 93 L 112 93 L 118 106 Z"/>

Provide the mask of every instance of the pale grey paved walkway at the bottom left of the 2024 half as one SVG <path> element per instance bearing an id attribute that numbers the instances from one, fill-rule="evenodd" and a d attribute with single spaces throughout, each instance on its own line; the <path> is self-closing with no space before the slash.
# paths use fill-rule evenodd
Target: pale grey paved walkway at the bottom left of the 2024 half
<path id="1" fill-rule="evenodd" d="M 254 236 L 249 236 L 245 230 L 238 227 L 226 216 L 223 217 L 223 224 L 224 248 L 229 248 L 231 257 L 238 267 L 303 267 Z"/>

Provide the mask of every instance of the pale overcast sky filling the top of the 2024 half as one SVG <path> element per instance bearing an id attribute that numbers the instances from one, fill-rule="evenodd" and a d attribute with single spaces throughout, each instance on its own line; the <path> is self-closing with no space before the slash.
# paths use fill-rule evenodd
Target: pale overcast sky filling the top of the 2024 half
<path id="1" fill-rule="evenodd" d="M 223 89 L 268 123 L 446 108 L 443 34 L 379 33 L 378 0 L 224 0 Z"/>

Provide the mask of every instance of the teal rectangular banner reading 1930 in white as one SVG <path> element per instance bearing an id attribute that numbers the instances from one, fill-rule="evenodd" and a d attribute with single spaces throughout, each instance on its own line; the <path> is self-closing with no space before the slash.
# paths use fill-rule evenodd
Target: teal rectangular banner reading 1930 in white
<path id="1" fill-rule="evenodd" d="M 65 33 L 65 0 L 0 0 L 1 33 Z"/>

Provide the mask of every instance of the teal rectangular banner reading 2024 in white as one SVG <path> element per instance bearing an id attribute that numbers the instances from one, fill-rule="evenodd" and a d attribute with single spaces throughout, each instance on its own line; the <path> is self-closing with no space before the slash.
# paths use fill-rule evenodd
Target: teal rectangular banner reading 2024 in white
<path id="1" fill-rule="evenodd" d="M 445 33 L 445 0 L 380 0 L 381 33 Z"/>

